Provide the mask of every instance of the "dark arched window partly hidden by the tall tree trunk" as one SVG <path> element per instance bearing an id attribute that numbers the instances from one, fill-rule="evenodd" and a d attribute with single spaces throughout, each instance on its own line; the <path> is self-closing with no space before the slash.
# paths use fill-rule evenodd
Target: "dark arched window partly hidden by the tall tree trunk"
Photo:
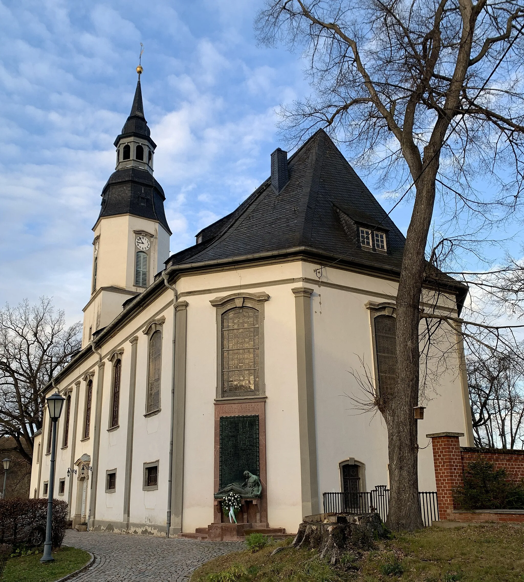
<path id="1" fill-rule="evenodd" d="M 396 319 L 392 315 L 377 315 L 374 322 L 378 389 L 380 397 L 387 399 L 396 383 Z"/>

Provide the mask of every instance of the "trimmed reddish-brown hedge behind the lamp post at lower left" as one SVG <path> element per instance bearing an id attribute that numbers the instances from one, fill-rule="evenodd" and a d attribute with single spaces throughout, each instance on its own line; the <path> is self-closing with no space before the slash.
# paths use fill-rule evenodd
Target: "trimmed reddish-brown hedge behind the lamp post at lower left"
<path id="1" fill-rule="evenodd" d="M 68 504 L 53 500 L 51 543 L 62 545 Z M 0 501 L 0 544 L 34 548 L 45 541 L 47 499 L 2 499 Z"/>

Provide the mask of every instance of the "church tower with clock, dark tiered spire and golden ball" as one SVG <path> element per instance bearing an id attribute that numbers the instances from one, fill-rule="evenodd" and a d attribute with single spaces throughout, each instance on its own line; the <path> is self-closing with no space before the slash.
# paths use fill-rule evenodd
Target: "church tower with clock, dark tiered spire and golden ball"
<path id="1" fill-rule="evenodd" d="M 82 346 L 121 313 L 122 304 L 146 289 L 169 258 L 164 190 L 153 178 L 157 145 L 144 117 L 141 66 L 131 112 L 116 137 L 116 167 L 102 190 L 93 226 L 91 299 L 84 307 Z"/>

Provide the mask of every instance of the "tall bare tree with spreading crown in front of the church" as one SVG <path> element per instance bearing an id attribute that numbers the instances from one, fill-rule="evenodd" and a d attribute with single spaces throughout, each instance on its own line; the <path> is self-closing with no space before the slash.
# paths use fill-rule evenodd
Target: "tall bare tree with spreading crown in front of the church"
<path id="1" fill-rule="evenodd" d="M 413 199 L 396 299 L 396 388 L 381 410 L 394 530 L 422 526 L 413 407 L 436 201 L 449 225 L 467 220 L 478 229 L 519 204 L 523 17 L 518 1 L 268 0 L 256 22 L 261 42 L 288 42 L 309 59 L 314 95 L 282 110 L 289 138 L 298 142 L 325 127 L 356 163 L 396 180 L 397 190 L 408 186 L 397 203 Z M 508 165 L 504 182 L 507 173 L 498 170 Z M 479 176 L 497 186 L 495 194 L 475 191 Z"/>

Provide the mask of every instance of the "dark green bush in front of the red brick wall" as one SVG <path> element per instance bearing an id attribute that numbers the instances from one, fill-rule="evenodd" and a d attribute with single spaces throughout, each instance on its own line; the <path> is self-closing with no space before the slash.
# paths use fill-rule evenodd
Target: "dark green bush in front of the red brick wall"
<path id="1" fill-rule="evenodd" d="M 524 482 L 515 481 L 505 469 L 479 458 L 468 464 L 463 487 L 453 491 L 460 509 L 524 509 Z"/>

